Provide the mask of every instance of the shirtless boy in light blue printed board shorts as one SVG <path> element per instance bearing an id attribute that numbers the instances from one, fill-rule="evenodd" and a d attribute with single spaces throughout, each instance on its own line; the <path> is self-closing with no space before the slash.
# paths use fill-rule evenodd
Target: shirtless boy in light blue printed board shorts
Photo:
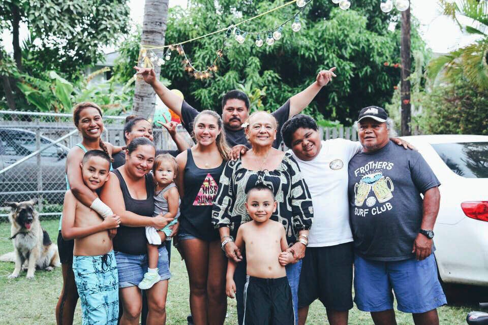
<path id="1" fill-rule="evenodd" d="M 94 193 L 108 180 L 110 157 L 90 150 L 81 163 L 83 183 Z M 120 217 L 104 220 L 81 204 L 71 190 L 65 194 L 61 234 L 74 239 L 73 272 L 81 298 L 82 324 L 116 324 L 118 320 L 118 274 L 108 229 L 117 228 Z"/>

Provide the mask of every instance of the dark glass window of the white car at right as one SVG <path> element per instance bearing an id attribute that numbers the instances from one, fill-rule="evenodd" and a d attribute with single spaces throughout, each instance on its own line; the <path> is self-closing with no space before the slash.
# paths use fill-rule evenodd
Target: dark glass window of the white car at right
<path id="1" fill-rule="evenodd" d="M 488 178 L 488 142 L 439 143 L 432 147 L 457 175 Z"/>

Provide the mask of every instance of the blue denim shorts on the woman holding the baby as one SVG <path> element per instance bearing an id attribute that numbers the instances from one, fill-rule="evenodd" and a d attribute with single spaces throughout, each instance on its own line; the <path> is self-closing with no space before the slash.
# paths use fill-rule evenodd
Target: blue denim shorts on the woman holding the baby
<path id="1" fill-rule="evenodd" d="M 147 272 L 147 254 L 132 255 L 115 252 L 115 261 L 117 262 L 119 288 L 138 285 L 144 278 L 144 273 Z M 160 281 L 171 278 L 168 251 L 164 246 L 159 248 L 158 269 L 161 276 Z"/>

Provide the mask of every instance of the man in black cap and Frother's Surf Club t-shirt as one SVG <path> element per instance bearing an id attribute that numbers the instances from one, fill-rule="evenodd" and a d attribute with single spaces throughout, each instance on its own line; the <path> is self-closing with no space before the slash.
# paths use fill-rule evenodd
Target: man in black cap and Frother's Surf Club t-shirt
<path id="1" fill-rule="evenodd" d="M 376 325 L 395 324 L 393 290 L 399 310 L 435 325 L 446 304 L 433 255 L 440 183 L 420 153 L 389 141 L 387 119 L 380 107 L 360 111 L 363 149 L 349 161 L 354 301 Z"/>

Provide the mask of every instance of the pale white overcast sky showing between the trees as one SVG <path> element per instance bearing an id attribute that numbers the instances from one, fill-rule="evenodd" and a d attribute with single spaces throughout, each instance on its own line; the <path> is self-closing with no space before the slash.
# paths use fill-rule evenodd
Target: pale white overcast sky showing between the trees
<path id="1" fill-rule="evenodd" d="M 236 0 L 239 1 L 239 0 Z M 354 8 L 354 1 L 351 8 Z M 449 18 L 442 16 L 437 6 L 437 0 L 411 0 L 412 14 L 420 21 L 420 32 L 427 45 L 434 51 L 447 53 L 456 48 L 470 44 L 475 37 L 463 35 L 459 27 Z M 380 0 L 378 0 L 378 10 Z M 187 0 L 170 0 L 170 7 L 186 7 Z M 130 0 L 131 18 L 136 24 L 142 24 L 144 6 L 141 0 Z M 21 28 L 21 37 L 25 38 L 27 30 Z M 2 34 L 3 46 L 8 52 L 12 51 L 12 37 L 8 31 Z M 109 49 L 107 49 L 109 51 Z"/>

